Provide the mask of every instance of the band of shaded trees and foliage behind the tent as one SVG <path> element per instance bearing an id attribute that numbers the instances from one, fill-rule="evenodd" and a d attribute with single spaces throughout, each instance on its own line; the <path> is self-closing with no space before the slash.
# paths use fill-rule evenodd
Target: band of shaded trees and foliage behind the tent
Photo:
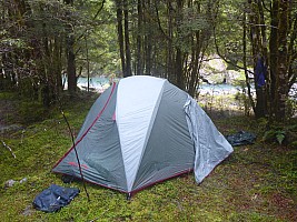
<path id="1" fill-rule="evenodd" d="M 204 63 L 219 57 L 244 70 L 257 118 L 291 114 L 296 1 L 2 0 L 0 10 L 0 90 L 44 108 L 63 92 L 63 74 L 70 95 L 78 77 L 112 73 L 167 78 L 195 97 Z"/>

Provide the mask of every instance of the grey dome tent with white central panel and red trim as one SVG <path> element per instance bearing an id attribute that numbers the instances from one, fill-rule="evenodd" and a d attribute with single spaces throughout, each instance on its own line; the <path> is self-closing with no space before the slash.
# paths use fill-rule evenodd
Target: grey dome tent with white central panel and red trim
<path id="1" fill-rule="evenodd" d="M 125 78 L 107 89 L 75 143 L 86 181 L 129 195 L 191 170 L 200 183 L 232 152 L 188 93 L 147 75 Z M 52 171 L 80 178 L 73 148 Z"/>

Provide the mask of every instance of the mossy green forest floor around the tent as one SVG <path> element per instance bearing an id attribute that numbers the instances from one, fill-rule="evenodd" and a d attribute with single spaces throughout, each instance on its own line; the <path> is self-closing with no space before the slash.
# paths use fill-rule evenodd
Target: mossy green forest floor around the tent
<path id="1" fill-rule="evenodd" d="M 63 111 L 75 134 L 96 98 L 65 100 Z M 60 175 L 51 173 L 71 147 L 62 115 L 50 110 L 44 120 L 23 123 L 20 111 L 24 108 L 19 104 L 18 98 L 0 93 L 0 140 L 16 154 L 0 144 L 1 221 L 297 221 L 297 150 L 265 143 L 265 120 L 211 109 L 222 134 L 254 132 L 255 144 L 235 147 L 201 184 L 189 173 L 140 191 L 130 201 L 120 192 L 87 184 L 89 202 L 81 182 L 63 184 Z M 12 186 L 9 180 L 16 181 Z M 34 210 L 34 196 L 53 183 L 79 188 L 81 193 L 57 213 Z"/>

